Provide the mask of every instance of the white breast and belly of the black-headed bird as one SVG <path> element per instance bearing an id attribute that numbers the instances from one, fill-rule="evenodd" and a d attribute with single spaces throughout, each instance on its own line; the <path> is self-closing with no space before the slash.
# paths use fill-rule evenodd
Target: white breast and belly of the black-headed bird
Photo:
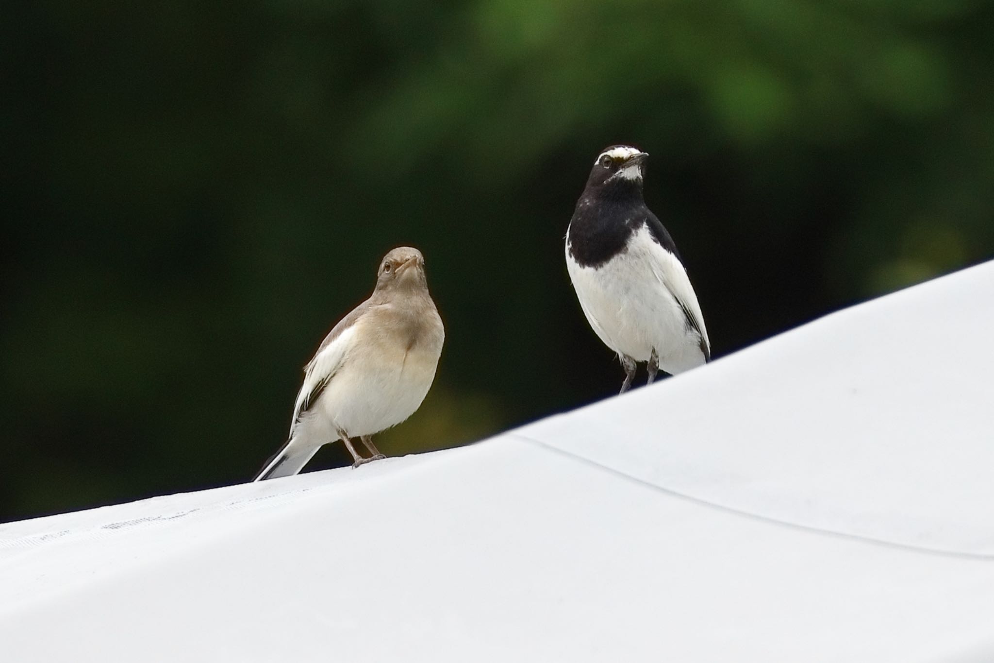
<path id="1" fill-rule="evenodd" d="M 686 283 L 695 308 L 697 297 L 680 260 L 654 242 L 647 227 L 629 238 L 626 250 L 600 266 L 581 266 L 570 255 L 569 240 L 566 257 L 580 307 L 608 348 L 639 362 L 648 361 L 655 349 L 667 373 L 704 363 L 700 338 L 688 329 L 672 283 Z M 678 294 L 686 303 L 687 294 Z"/>

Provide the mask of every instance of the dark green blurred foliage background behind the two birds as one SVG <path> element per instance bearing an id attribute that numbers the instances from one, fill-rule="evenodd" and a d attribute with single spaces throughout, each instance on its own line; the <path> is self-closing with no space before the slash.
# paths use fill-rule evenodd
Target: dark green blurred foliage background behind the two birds
<path id="1" fill-rule="evenodd" d="M 989 2 L 4 14 L 0 520 L 248 480 L 399 245 L 447 340 L 387 453 L 614 394 L 563 258 L 607 144 L 652 154 L 718 356 L 994 254 Z"/>

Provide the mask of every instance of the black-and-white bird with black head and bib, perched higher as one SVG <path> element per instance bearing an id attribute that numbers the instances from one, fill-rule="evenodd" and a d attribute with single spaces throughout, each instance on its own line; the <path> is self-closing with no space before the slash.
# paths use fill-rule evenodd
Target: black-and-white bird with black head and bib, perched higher
<path id="1" fill-rule="evenodd" d="M 627 145 L 597 155 L 566 234 L 566 262 L 593 331 L 649 383 L 711 361 L 701 305 L 670 234 L 642 198 L 645 159 Z"/>

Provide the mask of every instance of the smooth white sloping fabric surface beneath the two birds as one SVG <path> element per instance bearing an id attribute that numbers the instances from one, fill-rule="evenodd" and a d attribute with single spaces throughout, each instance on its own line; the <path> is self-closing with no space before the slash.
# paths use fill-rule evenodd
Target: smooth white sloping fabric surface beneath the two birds
<path id="1" fill-rule="evenodd" d="M 994 264 L 469 447 L 0 525 L 3 661 L 994 660 Z"/>

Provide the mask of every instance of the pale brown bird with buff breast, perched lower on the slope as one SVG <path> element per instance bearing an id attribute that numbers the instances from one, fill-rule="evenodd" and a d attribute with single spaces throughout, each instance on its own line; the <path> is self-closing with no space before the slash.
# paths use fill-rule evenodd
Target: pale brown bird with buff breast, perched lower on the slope
<path id="1" fill-rule="evenodd" d="M 289 437 L 254 480 L 296 474 L 323 444 L 339 439 L 353 467 L 383 458 L 372 435 L 420 407 L 444 340 L 421 252 L 393 249 L 380 263 L 370 298 L 335 325 L 304 367 Z M 372 457 L 356 451 L 353 437 Z"/>

